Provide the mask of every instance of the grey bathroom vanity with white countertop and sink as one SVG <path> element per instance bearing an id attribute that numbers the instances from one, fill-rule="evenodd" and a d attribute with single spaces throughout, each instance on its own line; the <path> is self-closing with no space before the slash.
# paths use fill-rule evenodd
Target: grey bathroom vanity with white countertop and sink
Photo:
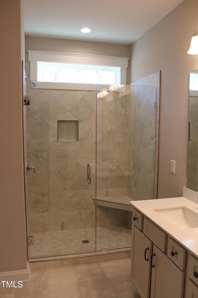
<path id="1" fill-rule="evenodd" d="M 142 298 L 198 297 L 197 192 L 131 201 L 131 281 Z"/>

